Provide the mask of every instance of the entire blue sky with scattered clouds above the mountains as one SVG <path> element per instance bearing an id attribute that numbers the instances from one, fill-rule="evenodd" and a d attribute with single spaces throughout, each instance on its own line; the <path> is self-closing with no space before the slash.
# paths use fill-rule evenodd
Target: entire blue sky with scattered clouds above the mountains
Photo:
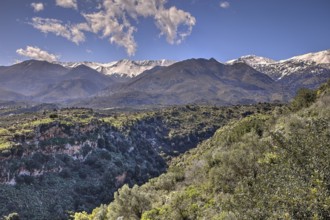
<path id="1" fill-rule="evenodd" d="M 330 49 L 329 0 L 1 0 L 0 65 Z"/>

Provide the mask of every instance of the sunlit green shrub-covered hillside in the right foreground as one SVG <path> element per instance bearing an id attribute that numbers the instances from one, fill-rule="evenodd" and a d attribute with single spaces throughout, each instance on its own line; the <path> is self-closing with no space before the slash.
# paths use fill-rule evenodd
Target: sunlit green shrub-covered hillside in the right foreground
<path id="1" fill-rule="evenodd" d="M 172 160 L 168 172 L 124 185 L 88 219 L 329 219 L 330 81 L 289 109 L 251 115 Z"/>

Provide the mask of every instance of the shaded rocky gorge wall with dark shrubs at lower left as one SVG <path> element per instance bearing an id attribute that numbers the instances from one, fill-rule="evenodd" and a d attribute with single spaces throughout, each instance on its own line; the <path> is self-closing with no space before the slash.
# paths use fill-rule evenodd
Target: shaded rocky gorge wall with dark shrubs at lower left
<path id="1" fill-rule="evenodd" d="M 54 213 L 63 219 L 65 210 L 90 210 L 111 201 L 122 184 L 142 184 L 166 170 L 164 159 L 134 128 L 119 130 L 100 121 L 52 122 L 13 142 L 16 147 L 0 160 L 1 213 L 18 211 L 29 219 Z M 21 198 L 24 192 L 29 202 Z M 32 210 L 24 211 L 27 207 Z"/>

